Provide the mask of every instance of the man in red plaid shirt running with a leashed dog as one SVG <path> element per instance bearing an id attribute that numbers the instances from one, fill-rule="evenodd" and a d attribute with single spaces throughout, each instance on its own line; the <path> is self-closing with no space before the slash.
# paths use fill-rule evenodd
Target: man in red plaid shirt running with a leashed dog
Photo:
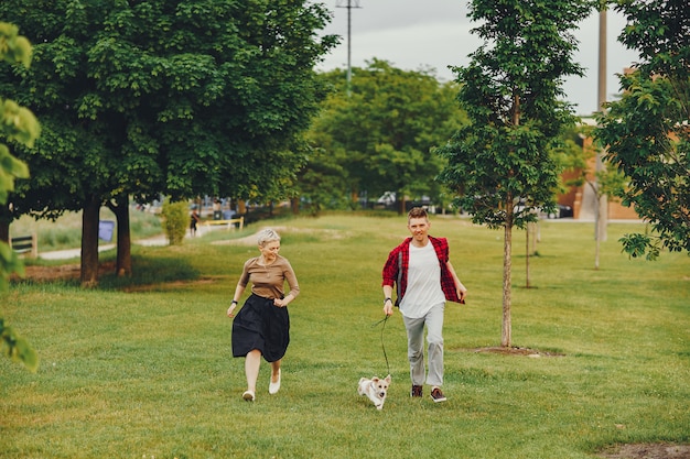
<path id="1" fill-rule="evenodd" d="M 392 315 L 392 287 L 397 285 L 396 306 L 400 307 L 408 335 L 408 360 L 412 397 L 421 397 L 424 384 L 424 326 L 429 342 L 431 398 L 445 402 L 443 385 L 443 310 L 445 302 L 464 303 L 467 288 L 460 282 L 449 261 L 445 238 L 429 236 L 431 222 L 427 210 L 414 207 L 408 214 L 412 234 L 388 255 L 384 265 L 384 313 Z"/>

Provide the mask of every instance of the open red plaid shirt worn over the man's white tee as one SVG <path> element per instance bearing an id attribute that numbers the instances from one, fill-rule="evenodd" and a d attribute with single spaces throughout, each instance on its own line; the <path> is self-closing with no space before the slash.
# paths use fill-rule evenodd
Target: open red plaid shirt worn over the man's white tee
<path id="1" fill-rule="evenodd" d="M 446 263 L 449 261 L 449 247 L 445 238 L 429 237 L 433 249 L 436 251 L 439 258 L 439 264 L 441 265 L 441 289 L 445 295 L 445 299 L 449 302 L 460 303 L 457 297 L 457 291 L 455 289 L 455 282 L 449 271 Z M 397 299 L 396 306 L 400 304 L 400 300 L 405 296 L 405 292 L 408 286 L 408 267 L 410 265 L 410 242 L 412 238 L 407 238 L 400 245 L 395 248 L 388 254 L 388 260 L 384 265 L 384 282 L 381 286 L 393 286 L 397 284 Z"/>

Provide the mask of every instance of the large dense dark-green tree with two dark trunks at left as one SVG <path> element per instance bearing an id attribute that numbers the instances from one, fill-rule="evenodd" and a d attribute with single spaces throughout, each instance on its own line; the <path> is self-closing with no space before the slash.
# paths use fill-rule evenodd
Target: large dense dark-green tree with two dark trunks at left
<path id="1" fill-rule="evenodd" d="M 23 153 L 35 172 L 15 208 L 83 210 L 83 285 L 97 282 L 104 204 L 118 218 L 117 270 L 127 272 L 130 196 L 256 199 L 290 189 L 304 162 L 293 146 L 322 95 L 313 66 L 336 43 L 316 36 L 330 20 L 324 6 L 24 3 L 0 3 L 37 43 L 35 65 L 9 80 L 22 81 L 45 135 Z"/>

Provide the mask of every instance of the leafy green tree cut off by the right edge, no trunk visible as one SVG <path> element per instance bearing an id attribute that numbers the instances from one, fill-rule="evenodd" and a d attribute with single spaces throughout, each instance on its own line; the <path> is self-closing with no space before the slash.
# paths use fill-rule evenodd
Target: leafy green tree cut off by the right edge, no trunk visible
<path id="1" fill-rule="evenodd" d="M 621 75 L 621 100 L 606 103 L 594 131 L 607 160 L 629 182 L 623 204 L 651 225 L 653 234 L 626 234 L 630 256 L 661 248 L 690 254 L 690 9 L 683 0 L 621 0 L 627 18 L 618 41 L 639 52 Z"/>

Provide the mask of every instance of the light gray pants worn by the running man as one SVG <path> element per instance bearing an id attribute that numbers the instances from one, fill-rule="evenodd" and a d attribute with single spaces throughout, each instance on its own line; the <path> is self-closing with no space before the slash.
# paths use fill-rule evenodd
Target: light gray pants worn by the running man
<path id="1" fill-rule="evenodd" d="M 412 319 L 402 316 L 408 332 L 408 360 L 412 384 L 424 384 L 424 325 L 429 349 L 429 375 L 427 384 L 443 385 L 443 310 L 445 303 L 436 305 L 424 317 Z"/>

